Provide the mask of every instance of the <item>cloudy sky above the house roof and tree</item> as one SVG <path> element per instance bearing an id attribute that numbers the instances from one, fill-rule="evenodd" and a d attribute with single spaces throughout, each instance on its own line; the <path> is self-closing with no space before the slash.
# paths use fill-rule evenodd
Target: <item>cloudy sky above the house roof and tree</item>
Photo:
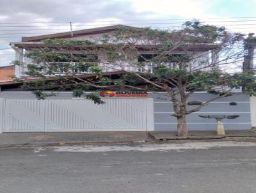
<path id="1" fill-rule="evenodd" d="M 256 33 L 256 0 L 1 0 L 0 66 L 10 65 L 10 42 L 113 24 L 179 29 L 186 20 Z"/>

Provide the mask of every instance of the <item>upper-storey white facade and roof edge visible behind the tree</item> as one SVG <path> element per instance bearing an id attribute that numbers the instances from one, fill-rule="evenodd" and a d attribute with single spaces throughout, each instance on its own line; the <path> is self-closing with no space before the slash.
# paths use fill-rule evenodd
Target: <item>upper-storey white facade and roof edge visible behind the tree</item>
<path id="1" fill-rule="evenodd" d="M 54 39 L 54 38 L 64 38 L 68 40 L 97 40 L 102 35 L 109 35 L 112 31 L 114 31 L 119 26 L 108 26 L 108 27 L 98 27 L 94 29 L 84 29 L 80 31 L 74 31 L 72 34 L 70 32 L 67 33 L 56 33 L 52 35 L 43 35 L 43 36 L 33 36 L 29 38 L 22 38 L 22 42 L 13 42 L 10 45 L 16 52 L 16 60 L 20 62 L 21 65 L 15 66 L 15 76 L 18 78 L 29 78 L 26 75 L 27 65 L 32 63 L 31 59 L 26 58 L 24 54 L 28 54 L 31 50 L 36 49 L 42 44 L 40 43 L 42 40 L 45 39 Z M 129 27 L 129 26 L 127 26 Z M 189 63 L 193 63 L 194 66 L 200 66 L 205 63 L 211 63 L 213 60 L 218 60 L 218 53 L 216 52 L 216 45 L 200 45 L 199 49 L 195 50 L 188 50 L 186 54 L 189 52 L 195 55 L 193 61 L 189 61 Z M 116 65 L 113 63 L 109 63 L 108 56 L 106 52 L 88 52 L 84 53 L 81 51 L 74 51 L 71 54 L 65 53 L 60 50 L 60 53 L 63 55 L 67 55 L 65 59 L 52 59 L 52 70 L 55 74 L 64 74 L 65 71 L 68 70 L 70 73 L 92 73 L 90 68 L 84 68 L 81 65 L 81 62 L 76 60 L 77 57 L 79 58 L 90 58 L 95 65 L 99 65 L 102 67 L 103 72 L 113 72 L 116 70 L 127 70 L 127 71 L 136 71 L 136 72 L 153 72 L 154 67 L 157 65 L 164 65 L 168 68 L 176 68 L 177 64 L 175 60 L 170 58 L 163 63 L 155 63 L 150 61 L 150 59 L 154 58 L 154 52 L 148 49 L 141 49 L 140 56 L 133 58 L 134 63 L 141 63 L 140 66 L 134 66 L 133 63 L 124 62 L 120 65 Z M 182 50 L 173 50 L 172 56 L 182 56 L 185 52 Z M 61 63 L 56 67 L 54 63 Z M 65 64 L 69 64 L 68 69 L 65 68 Z M 72 66 L 70 66 L 72 64 Z M 207 69 L 205 69 L 207 70 Z"/>

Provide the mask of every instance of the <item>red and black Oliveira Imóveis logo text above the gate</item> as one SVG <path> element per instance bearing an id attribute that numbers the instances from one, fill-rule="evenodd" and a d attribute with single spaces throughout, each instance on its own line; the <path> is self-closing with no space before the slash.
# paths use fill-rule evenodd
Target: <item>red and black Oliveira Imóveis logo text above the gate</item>
<path id="1" fill-rule="evenodd" d="M 100 93 L 102 97 L 148 97 L 146 91 L 102 91 Z"/>

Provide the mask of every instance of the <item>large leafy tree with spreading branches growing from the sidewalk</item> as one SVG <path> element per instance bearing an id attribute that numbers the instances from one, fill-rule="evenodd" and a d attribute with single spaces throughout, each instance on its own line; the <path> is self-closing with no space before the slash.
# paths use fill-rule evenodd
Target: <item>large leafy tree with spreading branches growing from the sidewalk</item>
<path id="1" fill-rule="evenodd" d="M 225 27 L 203 25 L 198 21 L 186 22 L 182 29 L 168 31 L 120 27 L 92 41 L 44 40 L 44 47 L 26 54 L 31 59 L 26 73 L 41 79 L 26 82 L 24 87 L 38 89 L 35 91 L 38 98 L 47 96 L 43 89 L 72 89 L 74 96 L 86 96 L 96 103 L 101 102 L 99 96 L 85 91 L 116 87 L 164 91 L 173 104 L 177 135 L 186 136 L 189 135 L 188 114 L 232 95 L 237 87 L 248 95 L 255 95 L 253 72 L 242 73 L 239 66 L 244 55 L 243 40 L 243 35 L 230 33 Z M 106 59 L 98 61 L 97 54 L 102 53 Z M 104 71 L 117 69 L 126 73 L 118 79 L 104 76 Z M 95 76 L 79 75 L 88 70 Z M 54 79 L 49 81 L 49 75 Z M 188 98 L 196 91 L 216 96 L 188 110 Z"/>

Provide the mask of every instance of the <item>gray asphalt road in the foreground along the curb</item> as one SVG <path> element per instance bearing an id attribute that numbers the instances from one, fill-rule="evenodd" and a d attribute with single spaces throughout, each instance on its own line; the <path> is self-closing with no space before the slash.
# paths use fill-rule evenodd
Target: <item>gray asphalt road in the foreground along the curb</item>
<path id="1" fill-rule="evenodd" d="M 205 146 L 0 148 L 0 192 L 256 192 L 255 143 Z"/>

